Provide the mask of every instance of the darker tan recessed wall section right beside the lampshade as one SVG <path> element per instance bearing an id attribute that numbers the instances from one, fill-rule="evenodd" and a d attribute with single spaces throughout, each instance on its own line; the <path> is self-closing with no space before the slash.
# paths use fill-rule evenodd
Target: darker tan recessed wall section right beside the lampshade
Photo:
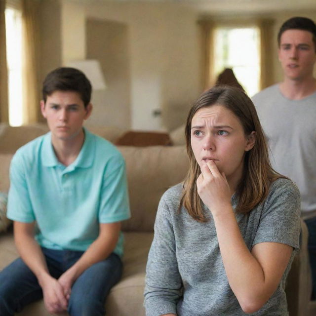
<path id="1" fill-rule="evenodd" d="M 107 88 L 93 91 L 89 124 L 131 128 L 128 27 L 108 20 L 86 20 L 87 59 L 100 62 Z"/>

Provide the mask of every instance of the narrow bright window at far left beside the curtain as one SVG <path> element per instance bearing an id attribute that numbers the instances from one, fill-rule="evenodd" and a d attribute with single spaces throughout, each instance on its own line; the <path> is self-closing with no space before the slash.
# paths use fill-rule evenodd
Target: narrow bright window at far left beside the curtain
<path id="1" fill-rule="evenodd" d="M 9 124 L 23 123 L 22 109 L 22 14 L 13 7 L 5 9 L 6 59 L 8 69 Z"/>

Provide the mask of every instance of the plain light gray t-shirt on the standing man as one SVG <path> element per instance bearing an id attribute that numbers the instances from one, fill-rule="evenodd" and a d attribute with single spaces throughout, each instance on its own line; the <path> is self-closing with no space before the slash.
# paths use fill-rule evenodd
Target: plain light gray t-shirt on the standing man
<path id="1" fill-rule="evenodd" d="M 275 84 L 253 96 L 252 101 L 267 136 L 273 168 L 298 186 L 302 217 L 315 217 L 316 93 L 289 100 Z"/>

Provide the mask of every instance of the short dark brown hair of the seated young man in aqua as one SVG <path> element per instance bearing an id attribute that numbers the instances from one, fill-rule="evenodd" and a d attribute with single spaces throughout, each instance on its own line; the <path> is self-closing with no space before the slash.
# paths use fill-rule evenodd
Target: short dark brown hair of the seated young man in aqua
<path id="1" fill-rule="evenodd" d="M 89 79 L 76 68 L 60 67 L 46 76 L 42 88 L 44 102 L 46 103 L 47 96 L 57 90 L 78 92 L 84 107 L 89 104 L 91 99 L 91 83 Z"/>

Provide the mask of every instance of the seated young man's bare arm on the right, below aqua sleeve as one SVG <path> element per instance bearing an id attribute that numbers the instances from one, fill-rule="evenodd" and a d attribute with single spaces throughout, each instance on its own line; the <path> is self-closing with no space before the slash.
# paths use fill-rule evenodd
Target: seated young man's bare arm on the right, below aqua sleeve
<path id="1" fill-rule="evenodd" d="M 100 223 L 100 233 L 80 259 L 58 279 L 64 294 L 69 299 L 71 287 L 76 279 L 93 264 L 106 259 L 114 250 L 119 237 L 120 222 Z"/>

